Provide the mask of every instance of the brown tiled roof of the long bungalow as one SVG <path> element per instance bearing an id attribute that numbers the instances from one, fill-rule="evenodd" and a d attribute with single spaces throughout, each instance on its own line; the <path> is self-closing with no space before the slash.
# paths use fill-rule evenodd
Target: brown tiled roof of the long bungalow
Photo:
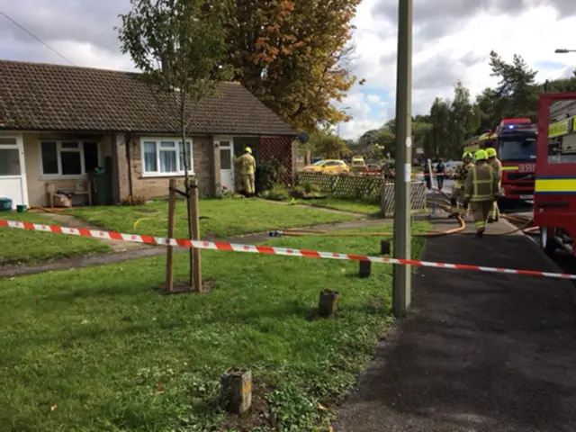
<path id="1" fill-rule="evenodd" d="M 0 60 L 0 130 L 174 133 L 174 103 L 140 74 Z M 189 133 L 295 135 L 237 83 L 202 99 Z"/>

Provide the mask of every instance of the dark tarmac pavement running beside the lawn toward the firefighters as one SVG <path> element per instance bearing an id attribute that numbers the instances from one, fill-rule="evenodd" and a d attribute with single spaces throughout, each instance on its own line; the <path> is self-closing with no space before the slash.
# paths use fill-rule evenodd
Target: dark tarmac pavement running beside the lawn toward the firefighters
<path id="1" fill-rule="evenodd" d="M 446 229 L 446 225 L 437 229 Z M 558 271 L 523 235 L 489 225 L 431 238 L 423 259 Z M 572 432 L 576 321 L 569 282 L 421 268 L 397 321 L 341 408 L 338 432 Z"/>

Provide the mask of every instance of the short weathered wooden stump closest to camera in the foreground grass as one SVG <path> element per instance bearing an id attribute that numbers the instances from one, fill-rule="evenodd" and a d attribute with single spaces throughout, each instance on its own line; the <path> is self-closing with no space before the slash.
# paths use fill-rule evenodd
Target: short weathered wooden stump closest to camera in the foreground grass
<path id="1" fill-rule="evenodd" d="M 220 377 L 220 399 L 224 409 L 244 414 L 252 405 L 252 373 L 230 368 Z"/>

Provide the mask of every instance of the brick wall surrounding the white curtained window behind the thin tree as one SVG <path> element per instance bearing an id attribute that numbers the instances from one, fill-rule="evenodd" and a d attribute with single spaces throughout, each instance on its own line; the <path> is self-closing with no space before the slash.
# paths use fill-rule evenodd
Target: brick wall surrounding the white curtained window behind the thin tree
<path id="1" fill-rule="evenodd" d="M 214 157 L 213 140 L 209 137 L 193 137 L 193 168 L 194 175 L 198 179 L 200 193 L 213 193 L 215 189 L 215 177 L 219 177 L 211 164 L 217 162 Z M 219 161 L 218 161 L 219 162 Z M 130 140 L 130 170 L 132 179 L 132 193 L 135 196 L 153 198 L 168 194 L 169 177 L 142 177 L 142 154 L 140 138 L 133 137 Z M 179 188 L 183 188 L 184 175 L 175 177 Z"/>

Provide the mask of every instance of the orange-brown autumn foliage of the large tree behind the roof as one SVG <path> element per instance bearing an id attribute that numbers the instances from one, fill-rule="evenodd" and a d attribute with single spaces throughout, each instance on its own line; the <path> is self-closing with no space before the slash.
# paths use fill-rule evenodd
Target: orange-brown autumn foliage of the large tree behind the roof
<path id="1" fill-rule="evenodd" d="M 240 81 L 297 130 L 346 120 L 332 106 L 356 82 L 351 23 L 360 0 L 236 0 L 227 30 Z"/>

